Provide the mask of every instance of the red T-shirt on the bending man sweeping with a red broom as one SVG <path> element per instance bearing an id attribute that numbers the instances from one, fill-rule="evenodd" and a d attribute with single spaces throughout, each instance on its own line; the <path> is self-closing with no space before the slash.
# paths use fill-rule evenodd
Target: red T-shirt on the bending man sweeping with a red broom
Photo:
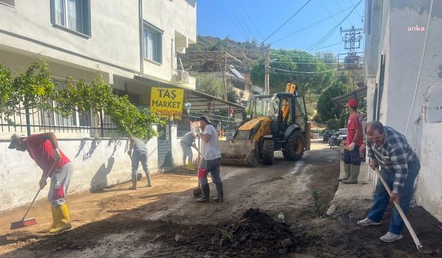
<path id="1" fill-rule="evenodd" d="M 43 169 L 45 173 L 49 172 L 50 167 L 54 164 L 55 154 L 54 149 L 52 148 L 52 144 L 50 144 L 49 140 L 43 140 L 43 134 L 32 134 L 32 136 L 28 136 L 28 153 L 32 160 L 35 160 L 35 163 Z M 60 151 L 61 159 L 57 164 L 57 169 L 61 166 L 64 166 L 70 160 L 63 152 Z"/>

